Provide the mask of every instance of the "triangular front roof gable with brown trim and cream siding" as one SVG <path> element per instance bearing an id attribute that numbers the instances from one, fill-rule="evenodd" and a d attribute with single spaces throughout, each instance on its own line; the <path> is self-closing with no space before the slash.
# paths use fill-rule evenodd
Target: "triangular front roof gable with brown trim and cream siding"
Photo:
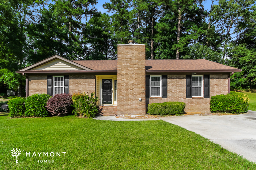
<path id="1" fill-rule="evenodd" d="M 58 62 L 59 64 L 56 62 Z M 61 68 L 61 66 L 64 66 L 64 68 Z M 57 67 L 59 67 L 59 69 L 55 69 Z M 44 60 L 41 60 L 35 64 L 32 64 L 29 67 L 25 67 L 25 68 L 21 69 L 19 71 L 27 71 L 27 70 L 87 70 L 87 71 L 91 71 L 90 68 L 87 68 L 78 63 L 72 62 L 71 60 L 65 59 L 58 55 L 54 55 L 54 56 L 51 56 Z"/>

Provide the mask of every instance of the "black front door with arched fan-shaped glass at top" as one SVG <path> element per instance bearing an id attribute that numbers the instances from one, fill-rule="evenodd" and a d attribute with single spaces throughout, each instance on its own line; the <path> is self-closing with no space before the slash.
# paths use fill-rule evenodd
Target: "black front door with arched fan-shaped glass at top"
<path id="1" fill-rule="evenodd" d="M 112 79 L 102 79 L 102 104 L 112 104 Z"/>

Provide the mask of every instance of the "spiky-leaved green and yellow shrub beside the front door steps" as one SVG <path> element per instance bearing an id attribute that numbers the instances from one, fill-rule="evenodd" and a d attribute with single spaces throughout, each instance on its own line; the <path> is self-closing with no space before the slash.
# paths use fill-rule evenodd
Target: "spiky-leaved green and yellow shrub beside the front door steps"
<path id="1" fill-rule="evenodd" d="M 95 92 L 89 95 L 88 93 L 83 92 L 83 94 L 74 94 L 72 95 L 75 109 L 73 112 L 75 116 L 83 115 L 84 117 L 95 117 L 98 111 L 98 97 L 95 96 Z"/>

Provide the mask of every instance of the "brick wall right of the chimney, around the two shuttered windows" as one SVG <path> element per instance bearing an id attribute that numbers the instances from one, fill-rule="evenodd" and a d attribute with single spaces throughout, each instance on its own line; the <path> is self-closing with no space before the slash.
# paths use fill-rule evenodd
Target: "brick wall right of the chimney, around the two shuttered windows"
<path id="1" fill-rule="evenodd" d="M 184 102 L 186 112 L 210 112 L 210 99 L 186 98 L 186 75 L 168 75 L 168 98 L 150 98 L 147 103 Z M 210 97 L 227 94 L 228 75 L 210 75 Z"/>

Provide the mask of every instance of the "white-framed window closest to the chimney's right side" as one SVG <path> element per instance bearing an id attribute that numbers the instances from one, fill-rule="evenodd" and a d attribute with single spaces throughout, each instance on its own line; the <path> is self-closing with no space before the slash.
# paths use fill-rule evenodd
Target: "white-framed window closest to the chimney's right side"
<path id="1" fill-rule="evenodd" d="M 150 96 L 161 97 L 161 76 L 150 76 Z"/>

